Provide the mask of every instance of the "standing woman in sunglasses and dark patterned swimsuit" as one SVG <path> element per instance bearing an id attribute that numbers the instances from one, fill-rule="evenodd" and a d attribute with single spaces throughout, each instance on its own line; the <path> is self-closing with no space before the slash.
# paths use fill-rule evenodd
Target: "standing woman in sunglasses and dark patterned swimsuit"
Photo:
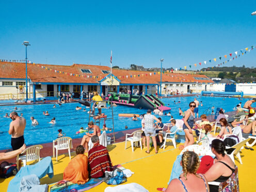
<path id="1" fill-rule="evenodd" d="M 194 136 L 192 133 L 192 128 L 195 120 L 194 109 L 196 107 L 196 103 L 194 101 L 190 102 L 189 107 L 190 108 L 185 113 L 184 124 L 182 127 L 183 131 L 185 132 L 185 138 L 186 138 L 184 143 L 184 148 L 194 144 Z"/>

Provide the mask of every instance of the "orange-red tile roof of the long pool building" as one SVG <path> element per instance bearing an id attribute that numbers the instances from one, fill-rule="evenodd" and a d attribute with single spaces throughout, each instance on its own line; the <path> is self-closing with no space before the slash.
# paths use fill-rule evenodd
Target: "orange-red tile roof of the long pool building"
<path id="1" fill-rule="evenodd" d="M 43 65 L 28 63 L 28 78 L 32 82 L 41 83 L 99 83 L 107 74 L 101 70 L 108 70 L 107 66 L 74 64 L 72 66 Z M 83 73 L 81 69 L 89 69 L 92 73 Z M 55 72 L 56 71 L 56 72 Z M 112 73 L 120 79 L 120 84 L 158 84 L 159 72 L 132 71 L 112 69 Z M 150 75 L 151 73 L 151 75 Z M 26 78 L 26 65 L 19 62 L 0 62 L 0 78 Z M 79 76 L 80 75 L 80 76 Z M 132 75 L 132 77 L 131 77 Z M 135 75 L 135 77 L 134 77 Z M 139 75 L 139 76 L 138 76 Z M 88 78 L 89 76 L 89 78 Z M 127 76 L 127 77 L 126 77 Z M 98 77 L 98 78 L 97 78 Z M 214 83 L 211 79 L 197 80 L 194 77 L 208 78 L 205 75 L 164 73 L 162 82 L 168 83 Z"/>

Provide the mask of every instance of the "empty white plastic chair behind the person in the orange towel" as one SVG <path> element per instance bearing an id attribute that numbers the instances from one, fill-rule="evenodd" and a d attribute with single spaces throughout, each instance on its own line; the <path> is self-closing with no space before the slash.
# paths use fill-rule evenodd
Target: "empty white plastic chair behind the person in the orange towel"
<path id="1" fill-rule="evenodd" d="M 55 142 L 57 144 L 55 145 Z M 71 137 L 60 137 L 53 140 L 53 157 L 55 157 L 55 149 L 56 149 L 56 162 L 58 161 L 58 150 L 68 149 L 69 158 L 71 159 L 70 149 L 73 149 L 72 138 Z"/>

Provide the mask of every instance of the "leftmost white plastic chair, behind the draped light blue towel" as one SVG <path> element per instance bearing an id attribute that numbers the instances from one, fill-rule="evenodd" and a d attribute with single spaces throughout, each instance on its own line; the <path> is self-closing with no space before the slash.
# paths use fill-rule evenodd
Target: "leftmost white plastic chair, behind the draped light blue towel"
<path id="1" fill-rule="evenodd" d="M 40 162 L 40 149 L 42 148 L 43 146 L 41 145 L 31 146 L 24 150 L 22 154 L 26 153 L 25 155 L 17 155 L 17 169 L 19 170 L 19 161 L 23 162 L 23 166 L 26 166 L 27 162 L 35 160 L 38 160 Z"/>

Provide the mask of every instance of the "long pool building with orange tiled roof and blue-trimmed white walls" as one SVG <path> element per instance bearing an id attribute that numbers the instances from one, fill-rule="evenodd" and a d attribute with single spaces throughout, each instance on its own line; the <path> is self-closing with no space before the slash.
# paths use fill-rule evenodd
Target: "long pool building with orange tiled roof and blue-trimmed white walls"
<path id="1" fill-rule="evenodd" d="M 112 71 L 110 75 L 110 71 Z M 58 91 L 75 93 L 97 90 L 107 92 L 139 91 L 139 94 L 167 94 L 168 90 L 187 93 L 207 90 L 213 81 L 198 74 L 161 73 L 110 69 L 107 66 L 73 64 L 71 66 L 27 64 L 28 98 L 30 101 L 57 97 Z M 25 99 L 26 65 L 24 62 L 0 62 L 0 100 Z"/>

